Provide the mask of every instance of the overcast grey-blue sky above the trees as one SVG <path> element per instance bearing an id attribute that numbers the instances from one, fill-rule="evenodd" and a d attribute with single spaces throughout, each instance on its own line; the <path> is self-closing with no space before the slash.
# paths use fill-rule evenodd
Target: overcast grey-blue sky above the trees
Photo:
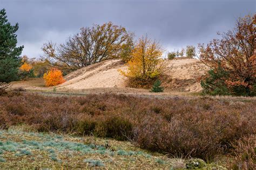
<path id="1" fill-rule="evenodd" d="M 22 55 L 39 57 L 43 43 L 65 39 L 85 26 L 113 22 L 159 40 L 166 51 L 207 43 L 235 19 L 255 13 L 255 0 L 0 0 L 9 22 L 19 23 Z"/>

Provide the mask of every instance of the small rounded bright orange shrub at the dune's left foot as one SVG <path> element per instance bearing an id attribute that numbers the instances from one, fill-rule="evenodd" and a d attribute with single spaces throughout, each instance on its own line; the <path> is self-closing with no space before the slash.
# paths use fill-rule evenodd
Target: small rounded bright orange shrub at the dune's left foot
<path id="1" fill-rule="evenodd" d="M 44 73 L 44 80 L 46 86 L 56 86 L 65 82 L 65 79 L 62 76 L 62 71 L 53 68 L 47 73 Z"/>

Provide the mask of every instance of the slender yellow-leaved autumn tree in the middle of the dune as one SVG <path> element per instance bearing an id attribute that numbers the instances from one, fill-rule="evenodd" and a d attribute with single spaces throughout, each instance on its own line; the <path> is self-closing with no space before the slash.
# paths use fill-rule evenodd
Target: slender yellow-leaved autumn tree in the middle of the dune
<path id="1" fill-rule="evenodd" d="M 163 49 L 156 40 L 147 36 L 139 38 L 127 62 L 127 72 L 120 72 L 129 78 L 131 86 L 145 86 L 164 72 L 166 65 L 162 55 Z"/>

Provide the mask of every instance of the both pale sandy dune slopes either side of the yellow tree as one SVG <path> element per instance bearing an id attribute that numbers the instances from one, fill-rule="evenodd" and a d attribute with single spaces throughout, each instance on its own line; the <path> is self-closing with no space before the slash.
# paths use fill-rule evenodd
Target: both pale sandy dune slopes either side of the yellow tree
<path id="1" fill-rule="evenodd" d="M 166 89 L 178 91 L 200 91 L 201 86 L 196 78 L 204 65 L 198 59 L 167 60 L 167 71 L 162 78 Z M 86 66 L 68 74 L 66 82 L 57 88 L 62 90 L 83 90 L 106 87 L 127 87 L 127 78 L 118 70 L 126 70 L 122 60 L 106 60 Z"/>

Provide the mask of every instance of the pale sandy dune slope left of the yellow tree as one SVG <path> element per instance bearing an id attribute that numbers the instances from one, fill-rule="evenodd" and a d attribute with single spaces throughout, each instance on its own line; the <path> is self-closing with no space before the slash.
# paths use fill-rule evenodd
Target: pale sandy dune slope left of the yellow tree
<path id="1" fill-rule="evenodd" d="M 107 60 L 102 63 L 93 64 L 68 74 L 65 77 L 67 81 L 59 85 L 57 89 L 82 90 L 125 87 L 124 81 L 126 78 L 119 73 L 118 69 L 125 69 L 125 65 L 121 60 Z"/>

